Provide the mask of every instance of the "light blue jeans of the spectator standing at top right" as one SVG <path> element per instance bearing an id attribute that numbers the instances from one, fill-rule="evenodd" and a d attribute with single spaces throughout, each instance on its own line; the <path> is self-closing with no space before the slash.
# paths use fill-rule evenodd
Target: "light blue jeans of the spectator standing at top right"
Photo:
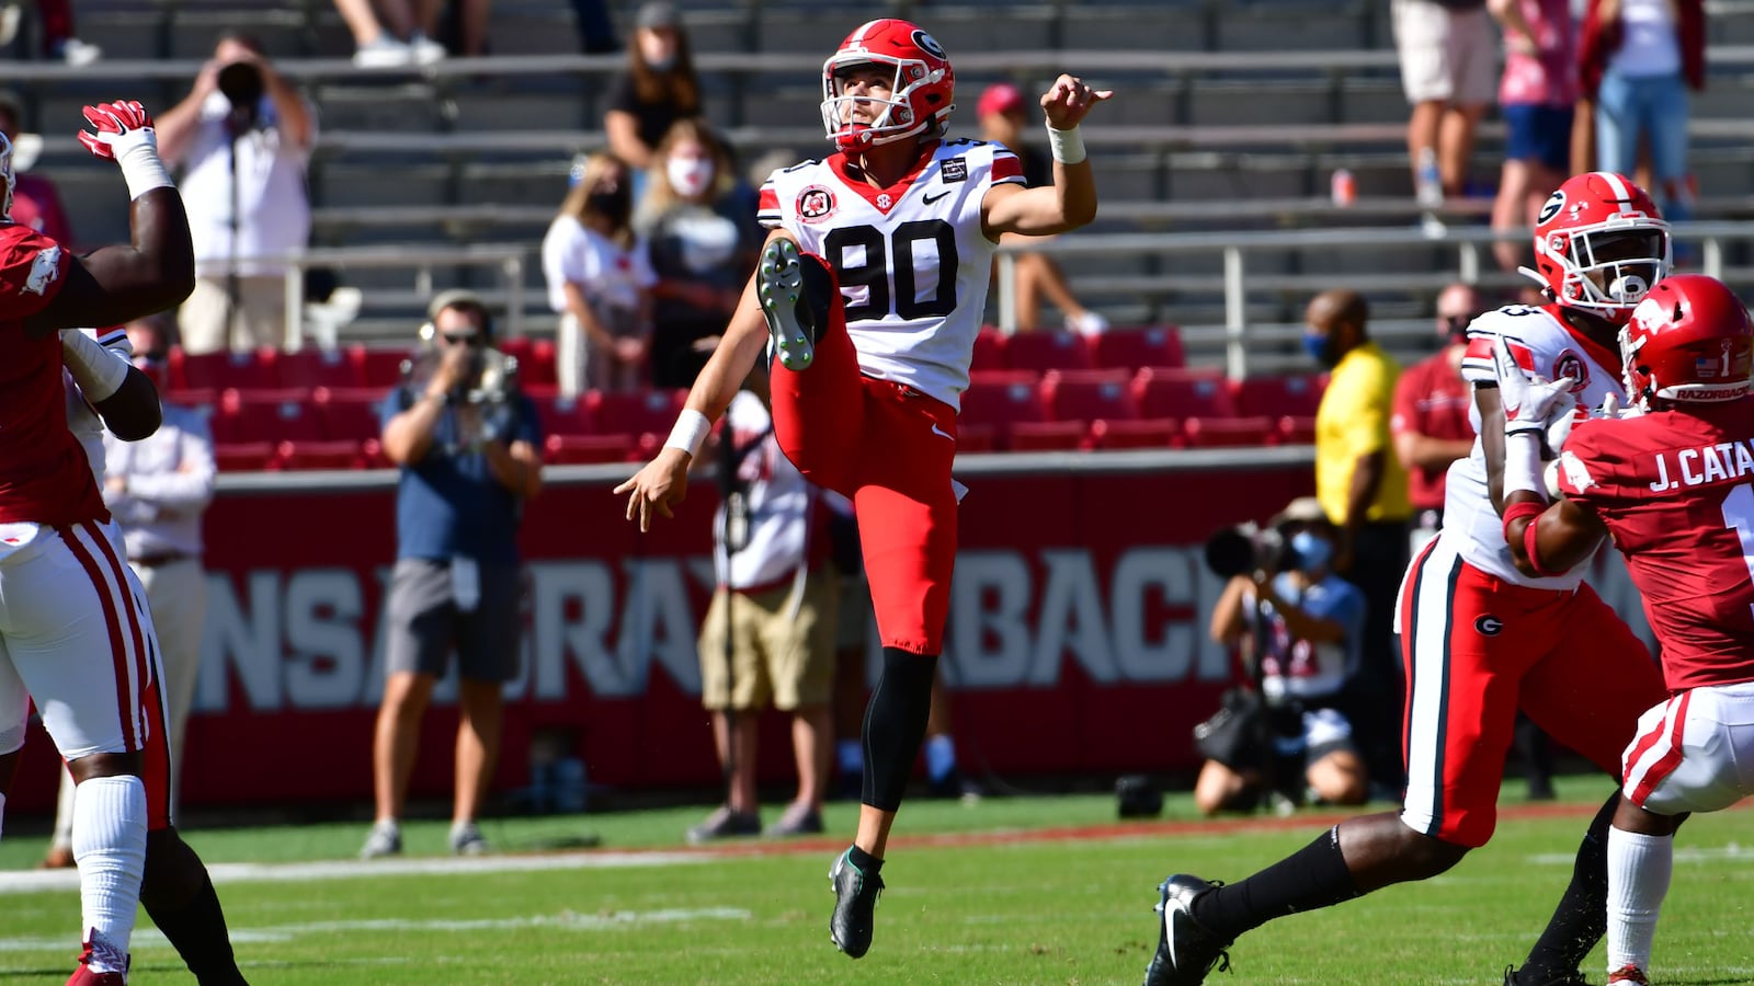
<path id="1" fill-rule="evenodd" d="M 1693 218 L 1687 177 L 1687 84 L 1677 75 L 1629 79 L 1608 72 L 1596 93 L 1596 167 L 1633 174 L 1638 137 L 1651 139 L 1651 191 L 1670 223 Z"/>

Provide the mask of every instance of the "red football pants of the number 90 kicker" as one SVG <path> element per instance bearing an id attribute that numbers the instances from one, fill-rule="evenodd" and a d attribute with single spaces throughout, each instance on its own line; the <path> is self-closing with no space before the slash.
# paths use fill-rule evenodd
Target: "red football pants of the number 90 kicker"
<path id="1" fill-rule="evenodd" d="M 774 360 L 774 437 L 810 482 L 852 500 L 882 646 L 937 656 L 956 567 L 956 411 L 859 374 L 833 284 L 812 365 L 793 372 Z"/>

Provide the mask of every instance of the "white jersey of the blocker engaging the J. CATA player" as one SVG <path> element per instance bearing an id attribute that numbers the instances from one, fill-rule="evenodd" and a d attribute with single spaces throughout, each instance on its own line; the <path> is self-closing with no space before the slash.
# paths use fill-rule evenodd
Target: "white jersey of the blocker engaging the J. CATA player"
<path id="1" fill-rule="evenodd" d="M 1529 305 L 1505 305 L 1473 319 L 1468 326 L 1468 351 L 1461 358 L 1461 377 L 1470 384 L 1498 382 L 1493 349 L 1505 337 L 1510 353 L 1524 372 L 1549 381 L 1577 377 L 1572 395 L 1579 409 L 1600 407 L 1608 393 L 1624 393 L 1619 372 L 1619 353 L 1572 332 L 1552 311 Z M 1612 367 L 1612 368 L 1610 368 Z M 1475 435 L 1480 432 L 1479 405 L 1468 407 L 1468 421 Z M 1533 579 L 1517 572 L 1505 544 L 1503 519 L 1493 509 L 1486 488 L 1486 454 L 1480 439 L 1473 440 L 1468 458 L 1449 467 L 1444 493 L 1444 530 L 1438 537 L 1475 568 L 1514 582 L 1540 589 L 1575 589 L 1584 581 L 1587 563 L 1563 575 Z"/>

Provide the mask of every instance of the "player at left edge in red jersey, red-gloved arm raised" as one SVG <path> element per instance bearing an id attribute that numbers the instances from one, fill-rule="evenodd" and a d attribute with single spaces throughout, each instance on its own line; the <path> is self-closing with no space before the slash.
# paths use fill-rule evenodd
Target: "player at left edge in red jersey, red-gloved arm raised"
<path id="1" fill-rule="evenodd" d="M 114 160 L 128 184 L 132 242 L 74 256 L 49 237 L 0 223 L 0 347 L 7 354 L 0 360 L 0 809 L 35 700 L 79 782 L 74 856 L 84 954 L 70 982 L 111 984 L 126 981 L 153 823 L 142 760 L 160 739 L 163 705 L 151 621 L 100 526 L 109 512 L 67 428 L 61 370 L 65 360 L 118 433 L 151 433 L 158 426 L 151 381 L 105 365 L 102 353 L 74 337 L 77 326 L 175 305 L 193 288 L 195 256 L 182 200 L 140 104 L 98 104 L 84 116 L 91 130 L 81 132 L 81 144 Z M 12 167 L 4 140 L 0 179 L 0 205 L 9 207 Z M 74 332 L 63 339 L 61 330 Z M 188 902 L 205 870 L 181 840 L 163 846 L 170 853 L 154 861 L 163 870 L 161 900 Z M 167 879 L 195 881 L 195 888 L 170 888 Z M 212 907 L 216 914 L 216 898 Z M 210 928 L 214 914 L 191 919 Z M 223 916 L 219 926 L 223 937 Z"/>

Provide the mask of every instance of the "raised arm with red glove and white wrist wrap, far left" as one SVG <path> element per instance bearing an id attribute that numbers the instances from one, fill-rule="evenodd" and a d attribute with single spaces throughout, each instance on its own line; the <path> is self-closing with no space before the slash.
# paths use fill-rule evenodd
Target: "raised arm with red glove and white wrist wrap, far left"
<path id="1" fill-rule="evenodd" d="M 182 196 L 158 158 L 153 118 L 139 102 L 84 109 L 91 130 L 79 133 L 95 158 L 116 161 L 128 196 L 132 242 L 74 258 L 67 282 L 26 321 L 32 335 L 84 325 L 121 325 L 181 304 L 195 289 L 195 247 Z"/>

